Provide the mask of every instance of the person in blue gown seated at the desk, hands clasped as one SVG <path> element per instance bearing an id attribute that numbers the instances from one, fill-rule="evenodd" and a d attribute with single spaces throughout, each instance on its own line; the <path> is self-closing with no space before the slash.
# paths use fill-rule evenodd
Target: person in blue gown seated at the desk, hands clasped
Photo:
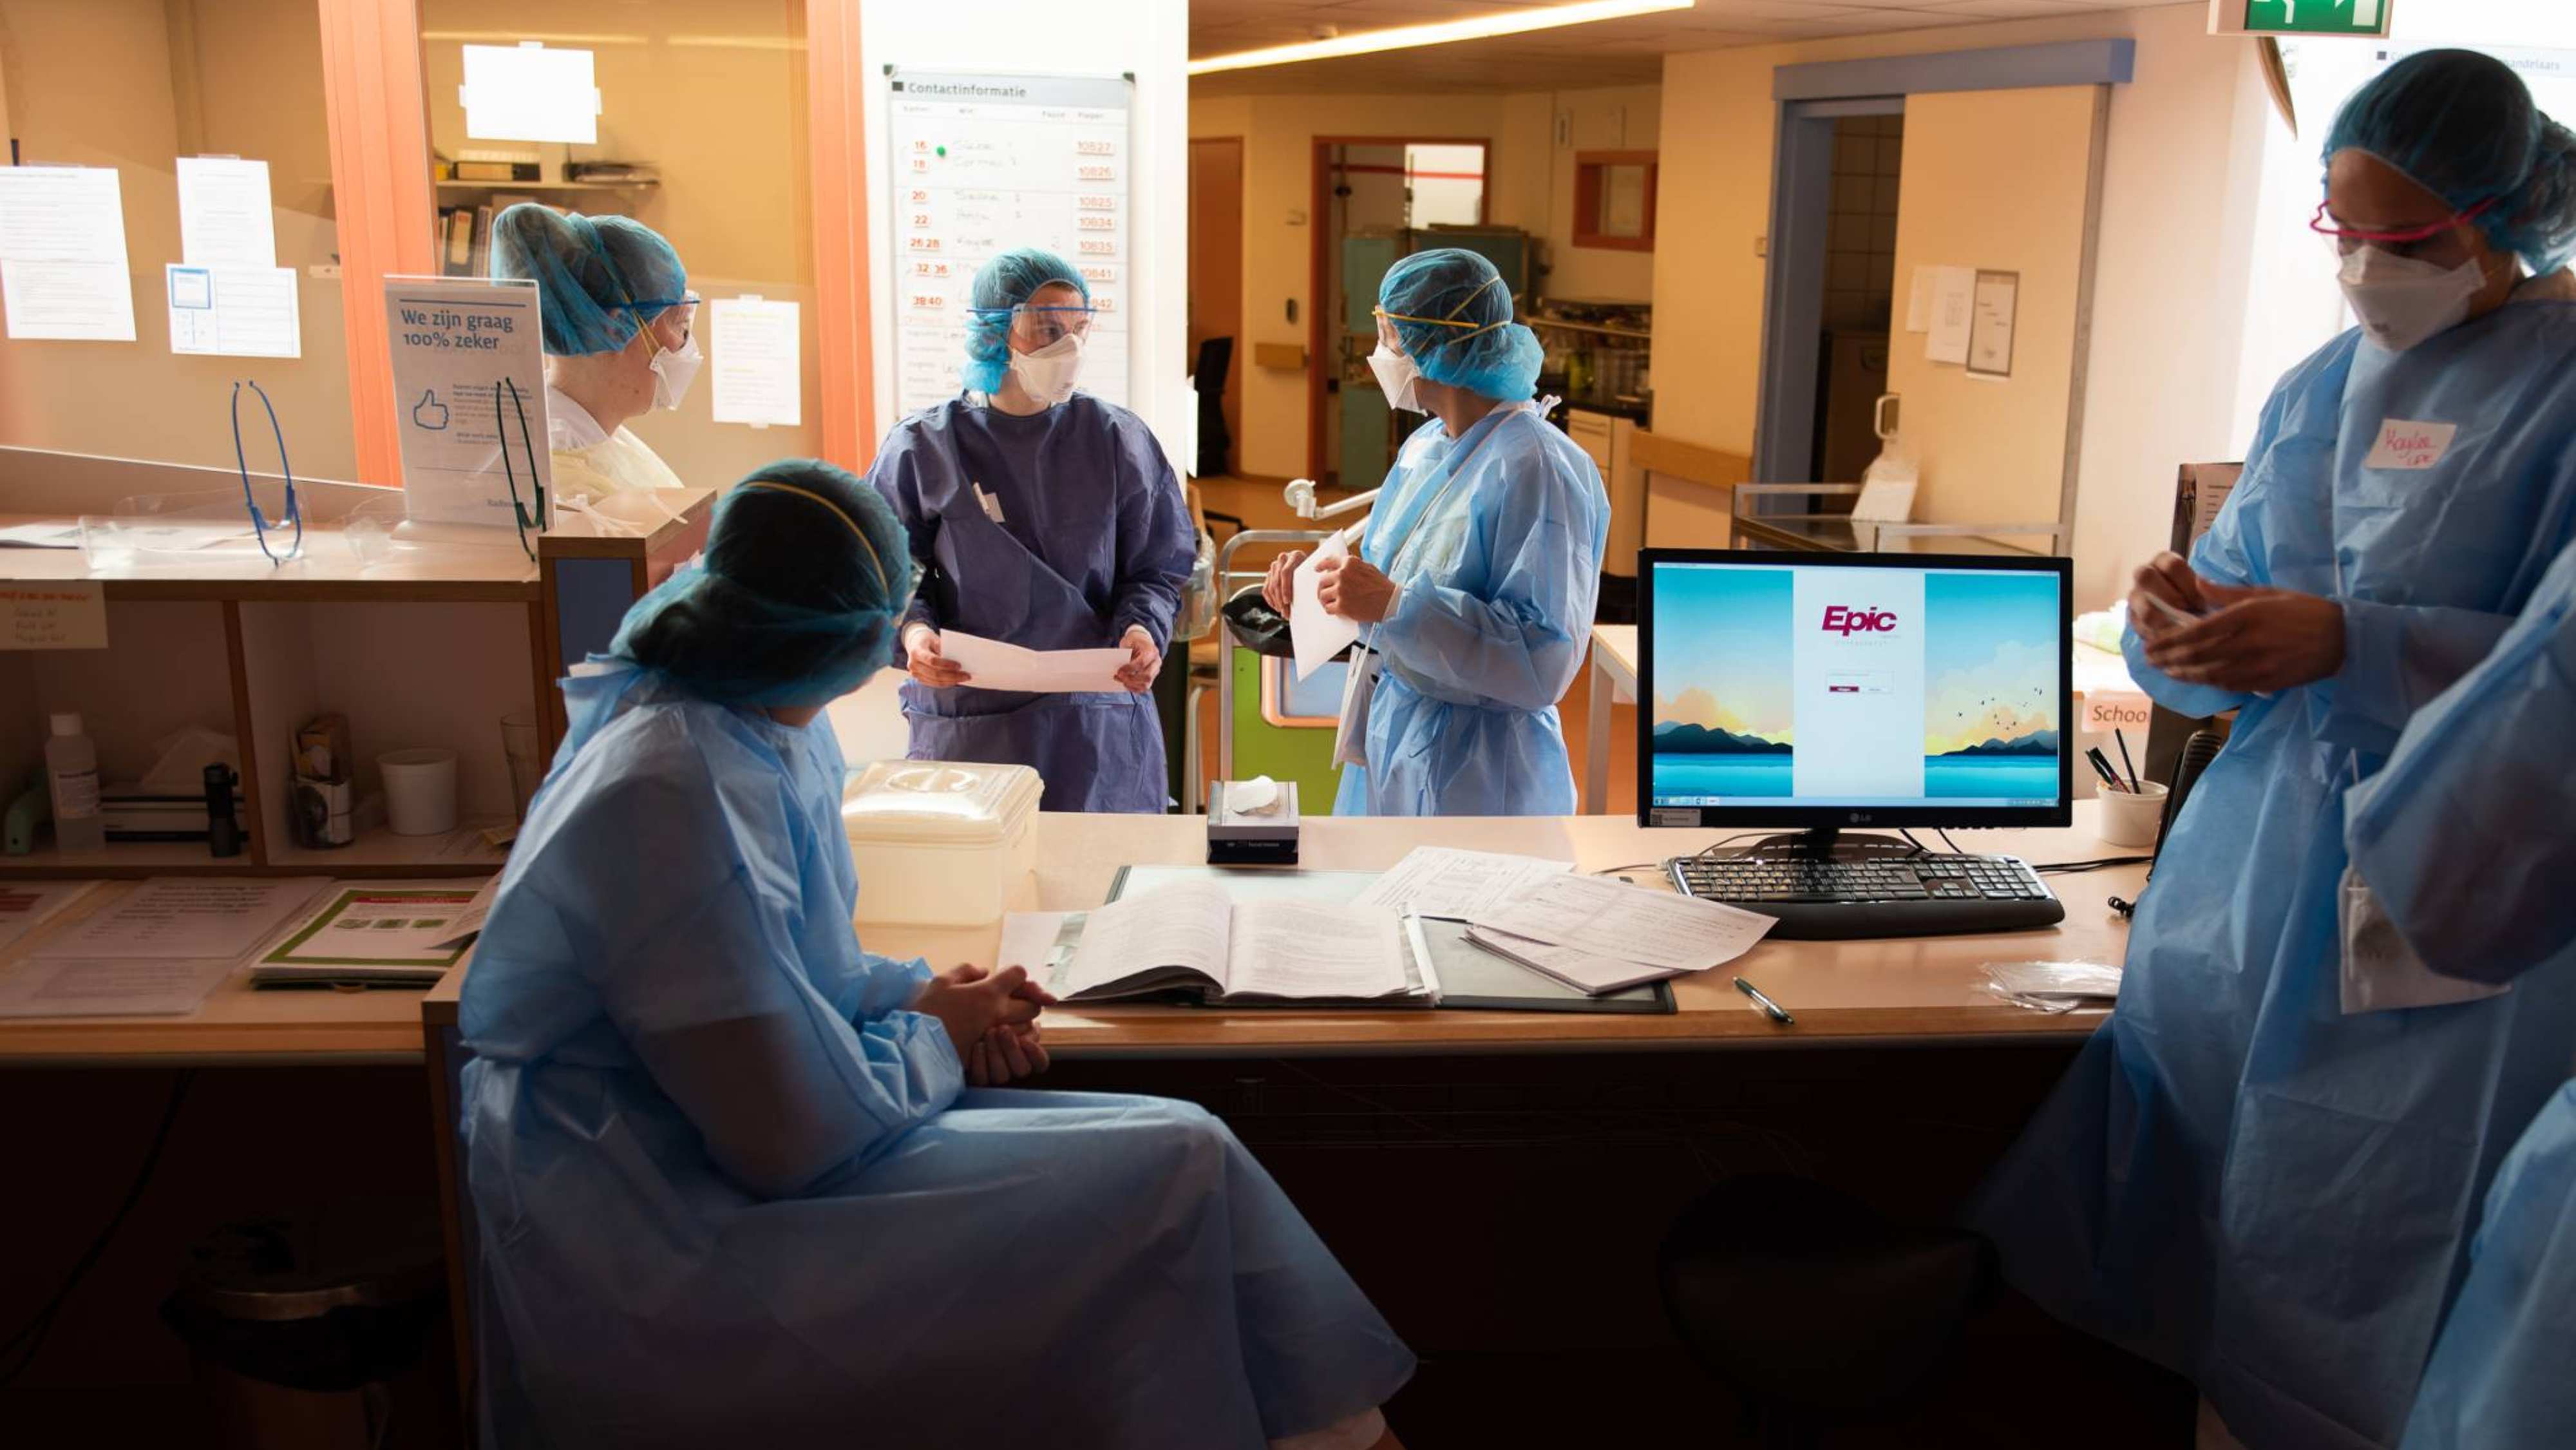
<path id="1" fill-rule="evenodd" d="M 1221 1123 L 987 1089 L 1048 997 L 850 932 L 819 711 L 909 595 L 770 464 L 564 683 L 461 1002 L 484 1445 L 1394 1445 L 1412 1352 Z"/>

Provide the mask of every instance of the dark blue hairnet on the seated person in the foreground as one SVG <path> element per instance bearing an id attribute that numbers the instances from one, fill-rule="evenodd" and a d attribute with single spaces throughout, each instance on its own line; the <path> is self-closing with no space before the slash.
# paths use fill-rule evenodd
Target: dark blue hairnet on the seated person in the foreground
<path id="1" fill-rule="evenodd" d="M 706 559 L 626 610 L 611 654 L 726 706 L 822 706 L 894 657 L 912 546 L 886 500 L 819 458 L 716 500 Z"/>

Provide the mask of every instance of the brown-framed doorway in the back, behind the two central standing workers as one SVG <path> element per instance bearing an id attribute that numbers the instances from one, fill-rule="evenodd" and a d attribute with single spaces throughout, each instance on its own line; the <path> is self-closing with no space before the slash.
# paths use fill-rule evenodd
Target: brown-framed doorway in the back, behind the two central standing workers
<path id="1" fill-rule="evenodd" d="M 1373 489 L 1401 443 L 1368 353 L 1378 345 L 1378 281 L 1437 245 L 1435 227 L 1486 214 L 1489 147 L 1458 137 L 1316 137 L 1314 250 L 1306 306 L 1306 476 Z"/>

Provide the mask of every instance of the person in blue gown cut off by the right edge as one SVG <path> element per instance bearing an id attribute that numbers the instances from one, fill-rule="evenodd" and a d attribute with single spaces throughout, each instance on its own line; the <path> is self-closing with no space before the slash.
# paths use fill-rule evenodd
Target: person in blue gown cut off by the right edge
<path id="1" fill-rule="evenodd" d="M 2576 974 L 2571 721 L 2576 549 L 2347 801 L 2352 871 L 2424 968 L 2512 992 Z M 2496 1169 L 2470 1254 L 2403 1450 L 2576 1442 L 2576 1082 Z"/>

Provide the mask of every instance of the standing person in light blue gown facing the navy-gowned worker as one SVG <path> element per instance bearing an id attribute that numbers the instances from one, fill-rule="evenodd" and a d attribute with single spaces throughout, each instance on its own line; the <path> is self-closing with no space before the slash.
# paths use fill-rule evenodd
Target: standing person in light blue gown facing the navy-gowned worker
<path id="1" fill-rule="evenodd" d="M 1443 247 L 1378 283 L 1386 402 L 1427 412 L 1388 469 L 1350 559 L 1327 559 L 1327 613 L 1368 654 L 1345 693 L 1337 816 L 1569 816 L 1574 765 L 1556 701 L 1584 667 L 1610 494 L 1530 402 L 1538 337 L 1512 322 L 1494 263 Z M 1262 595 L 1288 613 L 1303 551 Z M 1373 680 L 1370 680 L 1373 677 Z"/>

